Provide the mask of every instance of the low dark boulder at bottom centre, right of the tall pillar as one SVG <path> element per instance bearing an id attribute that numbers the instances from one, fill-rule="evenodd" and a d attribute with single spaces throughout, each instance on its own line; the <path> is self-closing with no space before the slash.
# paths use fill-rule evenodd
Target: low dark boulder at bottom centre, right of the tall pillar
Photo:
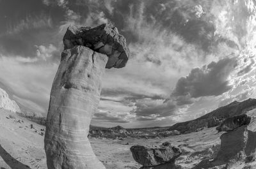
<path id="1" fill-rule="evenodd" d="M 171 145 L 170 142 L 154 147 L 134 145 L 130 150 L 134 160 L 143 165 L 143 168 L 159 167 L 159 165 L 166 163 L 174 163 L 175 159 L 181 154 L 180 148 Z"/>

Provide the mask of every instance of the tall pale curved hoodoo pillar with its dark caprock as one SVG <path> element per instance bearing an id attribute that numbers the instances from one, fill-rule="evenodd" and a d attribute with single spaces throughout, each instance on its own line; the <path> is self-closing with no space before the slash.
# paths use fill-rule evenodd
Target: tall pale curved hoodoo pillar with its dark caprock
<path id="1" fill-rule="evenodd" d="M 105 68 L 122 68 L 129 58 L 115 27 L 70 26 L 51 89 L 45 152 L 49 169 L 103 169 L 87 138 L 100 99 Z"/>

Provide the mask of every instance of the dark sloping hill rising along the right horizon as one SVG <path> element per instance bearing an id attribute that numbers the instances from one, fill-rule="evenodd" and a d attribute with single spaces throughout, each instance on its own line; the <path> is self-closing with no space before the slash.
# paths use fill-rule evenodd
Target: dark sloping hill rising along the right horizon
<path id="1" fill-rule="evenodd" d="M 248 110 L 256 108 L 256 99 L 247 99 L 242 102 L 234 101 L 229 105 L 217 108 L 216 110 L 198 117 L 195 120 L 178 122 L 171 126 L 168 130 L 177 130 L 180 133 L 191 133 L 203 128 L 212 128 L 218 126 L 221 121 L 228 117 L 245 114 Z"/>

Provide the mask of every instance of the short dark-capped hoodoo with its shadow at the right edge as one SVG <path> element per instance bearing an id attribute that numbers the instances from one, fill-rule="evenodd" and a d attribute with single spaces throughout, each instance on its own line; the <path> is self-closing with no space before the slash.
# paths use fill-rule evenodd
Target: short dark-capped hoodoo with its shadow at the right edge
<path id="1" fill-rule="evenodd" d="M 195 169 L 221 165 L 232 166 L 237 163 L 241 165 L 242 163 L 247 163 L 248 159 L 255 159 L 256 128 L 254 122 L 250 123 L 251 118 L 245 114 L 223 122 L 229 127 L 223 127 L 227 133 L 220 136 L 221 145 L 218 154 L 213 160 L 205 159 L 201 161 L 195 166 Z M 255 117 L 253 117 L 253 121 L 255 121 Z"/>

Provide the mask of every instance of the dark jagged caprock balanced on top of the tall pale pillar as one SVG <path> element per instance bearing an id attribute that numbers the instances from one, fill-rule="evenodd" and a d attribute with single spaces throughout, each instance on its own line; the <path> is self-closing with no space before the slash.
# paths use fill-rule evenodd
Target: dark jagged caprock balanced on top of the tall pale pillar
<path id="1" fill-rule="evenodd" d="M 69 26 L 63 37 L 64 49 L 83 45 L 95 52 L 108 55 L 106 68 L 123 68 L 129 59 L 129 48 L 116 27 L 102 24 L 97 27 Z"/>

